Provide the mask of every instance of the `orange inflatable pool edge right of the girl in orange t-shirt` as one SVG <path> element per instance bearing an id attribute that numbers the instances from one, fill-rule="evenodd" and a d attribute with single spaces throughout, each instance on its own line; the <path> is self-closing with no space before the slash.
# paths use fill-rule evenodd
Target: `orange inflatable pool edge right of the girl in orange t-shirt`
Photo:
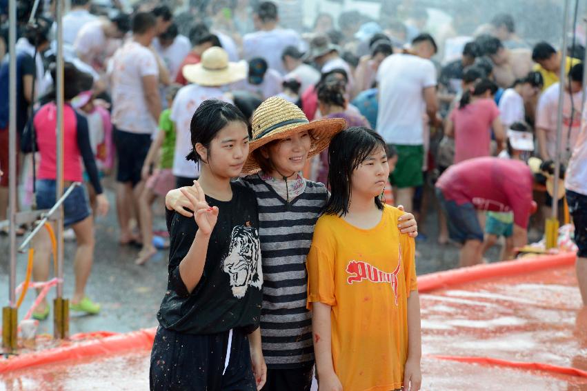
<path id="1" fill-rule="evenodd" d="M 502 261 L 475 265 L 469 268 L 446 270 L 446 272 L 424 274 L 418 277 L 418 291 L 430 292 L 431 290 L 448 288 L 450 286 L 484 279 L 515 276 L 548 268 L 560 268 L 573 265 L 576 259 L 577 255 L 574 252 L 564 252 L 555 255 L 517 259 L 515 261 Z"/>

